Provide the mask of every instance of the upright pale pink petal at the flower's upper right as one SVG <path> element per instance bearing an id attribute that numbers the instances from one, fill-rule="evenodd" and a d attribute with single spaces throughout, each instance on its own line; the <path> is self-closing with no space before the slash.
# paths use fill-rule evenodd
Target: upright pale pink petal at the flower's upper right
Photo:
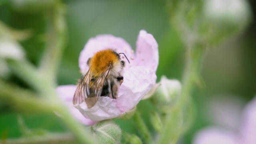
<path id="1" fill-rule="evenodd" d="M 152 34 L 140 30 L 136 42 L 135 66 L 146 66 L 156 71 L 159 62 L 158 44 Z"/>

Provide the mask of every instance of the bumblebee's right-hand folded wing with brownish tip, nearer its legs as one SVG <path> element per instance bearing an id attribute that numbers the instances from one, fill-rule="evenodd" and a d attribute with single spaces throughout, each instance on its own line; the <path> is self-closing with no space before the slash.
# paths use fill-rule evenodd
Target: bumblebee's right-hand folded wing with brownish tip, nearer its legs
<path id="1" fill-rule="evenodd" d="M 98 97 L 102 93 L 103 85 L 111 68 L 112 64 L 110 64 L 108 68 L 103 70 L 103 72 L 99 76 L 95 77 L 95 80 L 92 82 L 92 85 L 90 87 L 91 93 L 88 95 L 88 98 L 85 99 L 88 108 L 91 108 L 96 104 Z"/>

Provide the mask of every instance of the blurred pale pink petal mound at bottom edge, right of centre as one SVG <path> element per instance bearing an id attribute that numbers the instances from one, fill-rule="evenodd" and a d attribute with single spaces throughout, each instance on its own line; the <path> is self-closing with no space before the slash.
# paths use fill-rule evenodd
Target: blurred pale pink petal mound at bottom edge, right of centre
<path id="1" fill-rule="evenodd" d="M 198 132 L 193 144 L 239 144 L 236 135 L 217 128 L 206 128 Z"/>

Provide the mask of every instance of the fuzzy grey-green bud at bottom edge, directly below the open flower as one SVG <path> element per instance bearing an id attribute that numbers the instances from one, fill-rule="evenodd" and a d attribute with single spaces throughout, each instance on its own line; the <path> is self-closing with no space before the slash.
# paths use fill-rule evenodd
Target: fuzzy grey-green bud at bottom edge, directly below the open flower
<path id="1" fill-rule="evenodd" d="M 100 140 L 101 144 L 120 144 L 122 131 L 111 120 L 98 122 L 91 127 L 93 135 Z"/>

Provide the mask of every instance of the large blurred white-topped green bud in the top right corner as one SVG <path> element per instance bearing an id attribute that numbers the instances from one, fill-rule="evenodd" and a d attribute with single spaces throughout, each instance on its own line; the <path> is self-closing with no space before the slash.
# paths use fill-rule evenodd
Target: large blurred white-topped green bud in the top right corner
<path id="1" fill-rule="evenodd" d="M 251 19 L 247 0 L 204 0 L 202 13 L 204 25 L 201 37 L 209 44 L 222 42 L 228 36 L 238 34 L 248 26 Z"/>

